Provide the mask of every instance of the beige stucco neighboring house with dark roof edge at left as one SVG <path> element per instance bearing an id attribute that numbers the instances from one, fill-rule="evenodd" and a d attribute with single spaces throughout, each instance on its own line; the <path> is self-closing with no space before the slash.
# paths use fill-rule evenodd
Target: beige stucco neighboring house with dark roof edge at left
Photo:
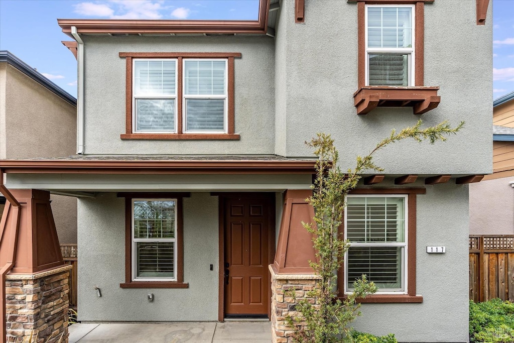
<path id="1" fill-rule="evenodd" d="M 34 68 L 0 51 L 0 158 L 73 155 L 77 99 Z M 77 200 L 51 195 L 59 241 L 77 243 Z M 0 214 L 5 197 L 0 196 Z"/>

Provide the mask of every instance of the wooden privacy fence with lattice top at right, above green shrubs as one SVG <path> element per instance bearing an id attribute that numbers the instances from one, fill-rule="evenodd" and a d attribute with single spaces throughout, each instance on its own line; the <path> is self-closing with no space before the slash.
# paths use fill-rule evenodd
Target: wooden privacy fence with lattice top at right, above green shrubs
<path id="1" fill-rule="evenodd" d="M 514 301 L 514 235 L 469 236 L 469 299 Z"/>

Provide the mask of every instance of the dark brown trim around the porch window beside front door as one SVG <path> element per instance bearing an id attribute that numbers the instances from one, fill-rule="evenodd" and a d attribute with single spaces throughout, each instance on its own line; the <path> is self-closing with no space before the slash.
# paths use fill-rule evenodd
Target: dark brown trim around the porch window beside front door
<path id="1" fill-rule="evenodd" d="M 183 282 L 184 272 L 184 240 L 183 240 L 183 213 L 182 199 L 189 197 L 189 193 L 168 192 L 134 192 L 118 193 L 118 197 L 125 198 L 125 282 L 120 283 L 121 288 L 188 288 L 189 284 Z M 132 200 L 134 198 L 173 198 L 177 200 L 177 281 L 132 281 Z"/>

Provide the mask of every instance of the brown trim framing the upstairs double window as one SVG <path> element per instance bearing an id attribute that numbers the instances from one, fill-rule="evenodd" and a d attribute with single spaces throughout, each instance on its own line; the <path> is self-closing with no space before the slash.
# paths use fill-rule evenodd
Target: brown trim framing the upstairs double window
<path id="1" fill-rule="evenodd" d="M 234 133 L 234 58 L 241 58 L 240 52 L 120 52 L 125 58 L 125 133 L 121 139 L 240 139 Z M 177 61 L 177 133 L 145 134 L 134 133 L 132 127 L 132 60 L 137 58 L 176 58 Z M 226 134 L 184 134 L 182 133 L 182 58 L 224 58 L 227 59 L 227 133 Z"/>

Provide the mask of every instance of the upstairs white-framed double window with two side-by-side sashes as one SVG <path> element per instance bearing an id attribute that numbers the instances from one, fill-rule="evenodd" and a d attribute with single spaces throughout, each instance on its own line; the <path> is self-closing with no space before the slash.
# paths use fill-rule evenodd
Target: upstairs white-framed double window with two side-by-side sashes
<path id="1" fill-rule="evenodd" d="M 179 66 L 176 58 L 133 59 L 134 133 L 228 132 L 228 60 L 181 61 Z"/>

